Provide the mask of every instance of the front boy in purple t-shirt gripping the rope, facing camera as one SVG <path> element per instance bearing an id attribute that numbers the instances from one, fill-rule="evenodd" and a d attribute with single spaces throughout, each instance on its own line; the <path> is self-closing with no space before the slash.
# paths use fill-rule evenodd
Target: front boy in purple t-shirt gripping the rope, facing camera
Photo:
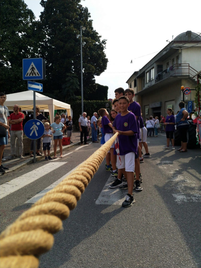
<path id="1" fill-rule="evenodd" d="M 137 155 L 137 123 L 133 113 L 128 111 L 129 99 L 122 96 L 118 99 L 118 107 L 121 114 L 115 117 L 113 123 L 114 133 L 118 132 L 119 155 L 117 157 L 117 167 L 122 172 L 126 172 L 128 184 L 128 194 L 123 207 L 129 207 L 135 202 L 133 198 L 133 183 L 135 170 L 135 157 Z M 119 183 L 121 183 L 120 179 Z M 118 182 L 118 181 L 117 181 Z M 136 178 L 136 187 L 140 187 L 139 177 Z M 142 187 L 141 187 L 142 188 Z"/>

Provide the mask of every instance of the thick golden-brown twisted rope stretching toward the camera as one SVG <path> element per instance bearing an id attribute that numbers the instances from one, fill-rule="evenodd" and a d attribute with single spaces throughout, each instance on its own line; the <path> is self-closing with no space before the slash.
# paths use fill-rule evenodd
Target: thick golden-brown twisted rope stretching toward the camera
<path id="1" fill-rule="evenodd" d="M 117 135 L 118 133 L 114 134 L 1 233 L 0 268 L 39 266 L 39 255 L 53 246 L 52 234 L 62 229 L 62 220 L 68 218 L 70 210 L 76 207 L 77 201 L 97 172 Z"/>

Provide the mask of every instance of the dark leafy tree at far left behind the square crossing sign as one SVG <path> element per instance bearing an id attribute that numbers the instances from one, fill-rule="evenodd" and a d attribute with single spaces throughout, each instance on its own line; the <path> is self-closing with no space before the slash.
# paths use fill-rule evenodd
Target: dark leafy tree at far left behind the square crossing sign
<path id="1" fill-rule="evenodd" d="M 35 58 L 36 22 L 23 0 L 0 2 L 0 87 L 6 94 L 27 89 L 22 59 Z"/>

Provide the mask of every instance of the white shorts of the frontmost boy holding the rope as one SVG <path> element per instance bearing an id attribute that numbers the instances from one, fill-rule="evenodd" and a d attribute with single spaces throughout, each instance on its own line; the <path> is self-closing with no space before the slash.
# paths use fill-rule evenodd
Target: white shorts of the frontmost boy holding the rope
<path id="1" fill-rule="evenodd" d="M 129 152 L 128 154 L 120 155 L 120 158 L 121 158 L 121 165 L 120 165 L 119 156 L 117 155 L 117 168 L 118 169 L 125 168 L 125 171 L 134 172 L 134 170 L 135 170 L 135 153 Z"/>

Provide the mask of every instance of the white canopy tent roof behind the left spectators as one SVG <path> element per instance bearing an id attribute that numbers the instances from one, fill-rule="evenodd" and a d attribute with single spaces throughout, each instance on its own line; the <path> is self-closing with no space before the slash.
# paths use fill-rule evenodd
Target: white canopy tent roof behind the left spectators
<path id="1" fill-rule="evenodd" d="M 13 105 L 17 104 L 23 110 L 32 110 L 33 109 L 33 91 L 23 91 L 13 94 L 6 95 L 5 106 L 8 107 L 9 110 L 13 110 Z M 68 116 L 70 114 L 70 104 L 65 102 L 57 101 L 55 99 L 51 99 L 47 96 L 44 96 L 36 91 L 36 105 L 40 107 L 41 110 L 49 110 L 50 113 L 50 122 L 54 121 L 54 110 L 64 110 L 66 109 L 68 112 Z"/>

